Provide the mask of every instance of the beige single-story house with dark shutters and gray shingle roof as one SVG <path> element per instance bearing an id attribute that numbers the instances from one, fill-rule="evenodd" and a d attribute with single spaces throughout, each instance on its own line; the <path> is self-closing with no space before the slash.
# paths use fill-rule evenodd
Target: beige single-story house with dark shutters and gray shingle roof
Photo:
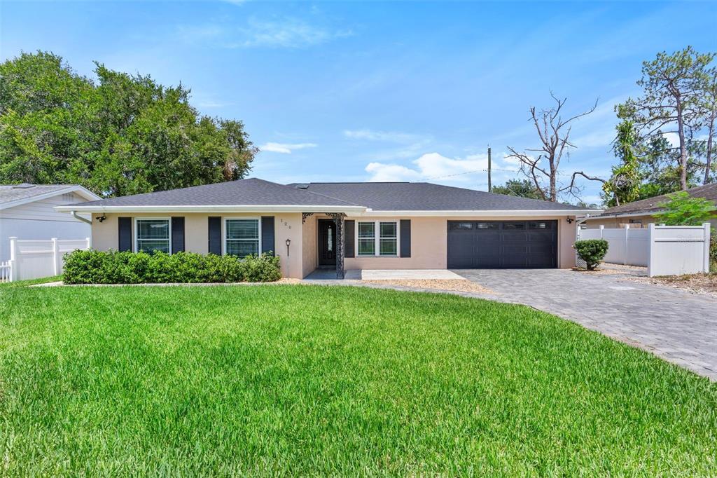
<path id="1" fill-rule="evenodd" d="M 273 251 L 282 274 L 315 268 L 569 268 L 586 210 L 429 183 L 262 179 L 56 207 L 92 214 L 100 250 Z"/>

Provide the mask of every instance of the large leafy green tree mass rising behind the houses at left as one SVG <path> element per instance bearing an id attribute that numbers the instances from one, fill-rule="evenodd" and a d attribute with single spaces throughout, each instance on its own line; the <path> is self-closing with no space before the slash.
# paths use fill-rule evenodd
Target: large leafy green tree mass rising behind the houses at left
<path id="1" fill-rule="evenodd" d="M 183 85 L 48 52 L 0 65 L 0 182 L 79 183 L 120 196 L 244 177 L 257 151 L 241 121 L 202 116 Z"/>

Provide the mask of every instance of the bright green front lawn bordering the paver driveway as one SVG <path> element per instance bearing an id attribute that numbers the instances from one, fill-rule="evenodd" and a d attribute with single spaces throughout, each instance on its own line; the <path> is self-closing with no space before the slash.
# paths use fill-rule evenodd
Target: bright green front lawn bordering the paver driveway
<path id="1" fill-rule="evenodd" d="M 717 385 L 528 307 L 0 289 L 0 474 L 717 474 Z"/>

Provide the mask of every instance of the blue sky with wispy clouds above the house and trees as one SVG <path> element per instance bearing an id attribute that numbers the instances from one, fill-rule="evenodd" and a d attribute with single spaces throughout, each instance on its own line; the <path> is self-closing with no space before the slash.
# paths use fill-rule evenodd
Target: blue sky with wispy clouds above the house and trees
<path id="1" fill-rule="evenodd" d="M 518 177 L 506 146 L 537 146 L 530 106 L 578 113 L 564 174 L 605 176 L 614 104 L 642 60 L 717 50 L 708 2 L 0 3 L 0 57 L 51 50 L 183 83 L 201 113 L 244 121 L 276 182 L 430 180 L 487 189 Z M 562 177 L 566 179 L 566 176 Z M 584 197 L 598 200 L 599 184 Z"/>

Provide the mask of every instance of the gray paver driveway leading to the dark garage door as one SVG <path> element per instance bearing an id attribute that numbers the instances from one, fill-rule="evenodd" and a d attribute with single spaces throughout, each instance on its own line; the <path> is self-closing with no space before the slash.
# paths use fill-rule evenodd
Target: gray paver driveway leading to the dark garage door
<path id="1" fill-rule="evenodd" d="M 566 269 L 455 271 L 500 294 L 717 380 L 717 299 L 624 275 Z"/>

